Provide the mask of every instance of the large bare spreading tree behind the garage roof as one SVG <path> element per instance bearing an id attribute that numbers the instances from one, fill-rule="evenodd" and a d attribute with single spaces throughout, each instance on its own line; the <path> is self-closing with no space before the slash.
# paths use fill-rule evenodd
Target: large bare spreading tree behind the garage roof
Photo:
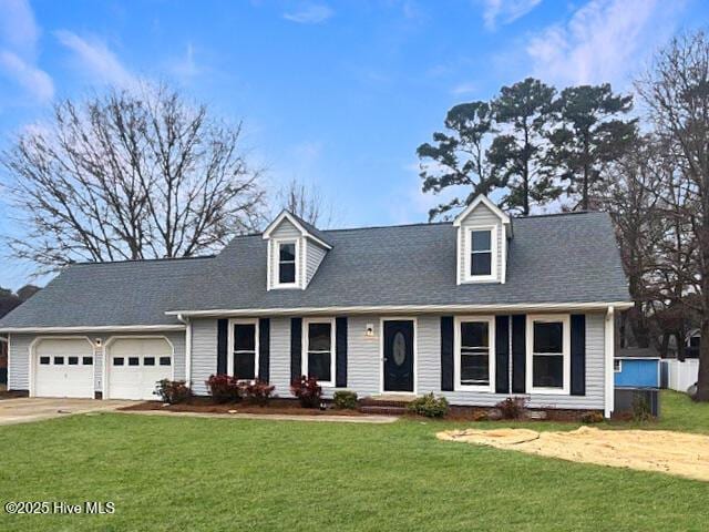
<path id="1" fill-rule="evenodd" d="M 11 253 L 45 273 L 213 250 L 261 222 L 260 173 L 240 144 L 240 124 L 164 85 L 60 102 L 2 154 L 24 228 Z"/>

